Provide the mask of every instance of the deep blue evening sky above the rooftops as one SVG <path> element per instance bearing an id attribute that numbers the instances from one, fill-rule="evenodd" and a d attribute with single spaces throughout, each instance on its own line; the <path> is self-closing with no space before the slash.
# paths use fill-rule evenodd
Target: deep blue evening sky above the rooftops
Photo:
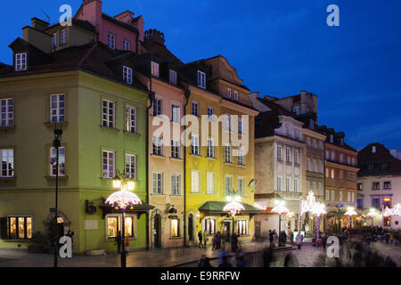
<path id="1" fill-rule="evenodd" d="M 401 1 L 102 0 L 112 16 L 143 15 L 182 61 L 224 55 L 243 84 L 278 97 L 318 95 L 320 125 L 346 132 L 355 148 L 381 142 L 401 150 Z M 21 0 L 2 4 L 0 61 L 32 17 L 55 23 L 61 4 L 81 0 Z M 340 27 L 326 25 L 326 7 L 340 7 Z M 5 25 L 6 23 L 6 25 Z"/>

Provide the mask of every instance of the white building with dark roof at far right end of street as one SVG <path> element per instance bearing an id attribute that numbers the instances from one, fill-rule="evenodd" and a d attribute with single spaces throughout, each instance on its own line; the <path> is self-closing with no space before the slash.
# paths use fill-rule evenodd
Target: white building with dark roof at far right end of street
<path id="1" fill-rule="evenodd" d="M 392 151 L 397 154 L 397 151 Z M 387 229 L 400 228 L 400 216 L 367 216 L 370 208 L 380 213 L 401 202 L 401 162 L 384 145 L 373 142 L 358 153 L 357 208 L 362 212 L 363 224 Z"/>

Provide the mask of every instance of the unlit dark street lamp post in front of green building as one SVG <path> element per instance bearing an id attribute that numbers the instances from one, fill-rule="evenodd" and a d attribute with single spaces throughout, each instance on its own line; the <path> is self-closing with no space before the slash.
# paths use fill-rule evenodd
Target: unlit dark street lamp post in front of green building
<path id="1" fill-rule="evenodd" d="M 55 208 L 54 208 L 54 260 L 53 260 L 53 266 L 57 267 L 57 244 L 58 244 L 58 224 L 57 224 L 57 217 L 58 217 L 58 194 L 59 194 L 59 167 L 60 167 L 60 162 L 59 162 L 59 156 L 60 156 L 60 147 L 61 147 L 61 134 L 62 130 L 59 128 L 54 128 L 54 140 L 53 140 L 53 148 L 56 149 L 56 157 L 50 159 L 50 163 L 55 164 Z"/>

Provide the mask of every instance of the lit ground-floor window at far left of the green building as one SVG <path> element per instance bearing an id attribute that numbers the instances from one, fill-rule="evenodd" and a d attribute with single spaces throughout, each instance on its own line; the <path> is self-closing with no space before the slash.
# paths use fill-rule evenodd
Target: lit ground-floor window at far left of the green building
<path id="1" fill-rule="evenodd" d="M 31 216 L 7 216 L 7 238 L 9 240 L 32 239 Z"/>

